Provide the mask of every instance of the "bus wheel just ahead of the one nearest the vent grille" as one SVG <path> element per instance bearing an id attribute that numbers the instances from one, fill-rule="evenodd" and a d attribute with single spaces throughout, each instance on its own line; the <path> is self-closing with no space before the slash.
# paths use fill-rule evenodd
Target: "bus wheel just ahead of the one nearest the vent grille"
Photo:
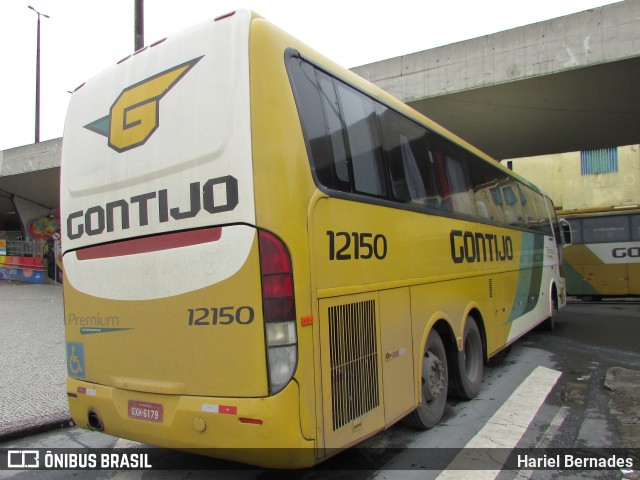
<path id="1" fill-rule="evenodd" d="M 482 337 L 473 317 L 467 317 L 462 335 L 462 351 L 454 355 L 451 365 L 451 393 L 464 400 L 480 392 L 484 372 Z"/>

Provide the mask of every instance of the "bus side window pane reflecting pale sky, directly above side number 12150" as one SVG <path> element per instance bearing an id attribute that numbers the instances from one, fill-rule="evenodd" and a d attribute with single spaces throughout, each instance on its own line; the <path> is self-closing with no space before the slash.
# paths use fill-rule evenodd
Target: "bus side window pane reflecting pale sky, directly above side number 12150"
<path id="1" fill-rule="evenodd" d="M 335 83 L 347 129 L 354 191 L 384 197 L 387 195 L 386 171 L 373 100 L 341 82 Z"/>

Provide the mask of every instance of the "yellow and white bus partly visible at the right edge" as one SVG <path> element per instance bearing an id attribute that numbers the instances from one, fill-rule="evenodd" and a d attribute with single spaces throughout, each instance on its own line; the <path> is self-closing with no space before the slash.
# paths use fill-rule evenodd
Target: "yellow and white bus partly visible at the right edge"
<path id="1" fill-rule="evenodd" d="M 640 295 L 640 207 L 557 212 L 571 225 L 564 248 L 567 294 L 586 300 Z"/>

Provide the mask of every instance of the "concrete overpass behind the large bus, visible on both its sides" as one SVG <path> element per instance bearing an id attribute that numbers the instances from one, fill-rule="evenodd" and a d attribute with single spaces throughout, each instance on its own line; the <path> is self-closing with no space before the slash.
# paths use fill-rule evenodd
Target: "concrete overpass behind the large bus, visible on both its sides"
<path id="1" fill-rule="evenodd" d="M 496 159 L 640 143 L 640 0 L 353 70 Z M 60 151 L 0 151 L 0 215 L 58 206 Z"/>

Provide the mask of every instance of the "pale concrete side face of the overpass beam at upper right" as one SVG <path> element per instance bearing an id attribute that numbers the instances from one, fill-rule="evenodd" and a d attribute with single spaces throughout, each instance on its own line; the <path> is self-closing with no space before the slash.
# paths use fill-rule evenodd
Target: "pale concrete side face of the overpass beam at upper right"
<path id="1" fill-rule="evenodd" d="M 639 31 L 633 0 L 352 70 L 412 102 L 637 57 Z"/>

